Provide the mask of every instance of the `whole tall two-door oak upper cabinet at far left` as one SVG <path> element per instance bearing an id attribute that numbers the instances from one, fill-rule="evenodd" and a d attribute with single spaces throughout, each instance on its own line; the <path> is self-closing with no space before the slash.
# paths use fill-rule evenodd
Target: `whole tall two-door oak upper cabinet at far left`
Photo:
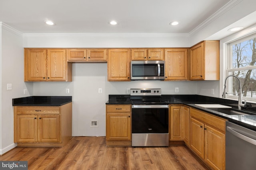
<path id="1" fill-rule="evenodd" d="M 66 49 L 24 49 L 24 81 L 72 81 Z"/>

